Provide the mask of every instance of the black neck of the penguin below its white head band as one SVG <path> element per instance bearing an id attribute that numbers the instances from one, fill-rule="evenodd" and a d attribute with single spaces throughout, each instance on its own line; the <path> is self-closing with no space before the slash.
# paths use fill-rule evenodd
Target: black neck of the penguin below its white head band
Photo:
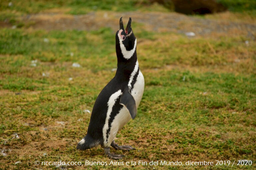
<path id="1" fill-rule="evenodd" d="M 137 52 L 134 51 L 131 58 L 126 59 L 123 57 L 123 54 L 117 54 L 117 70 L 116 76 L 123 76 L 129 79 L 131 73 L 133 72 L 137 62 Z"/>

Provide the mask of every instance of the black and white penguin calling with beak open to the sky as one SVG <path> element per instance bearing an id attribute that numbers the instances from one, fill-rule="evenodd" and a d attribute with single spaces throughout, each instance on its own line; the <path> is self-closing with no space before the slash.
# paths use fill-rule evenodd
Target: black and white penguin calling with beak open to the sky
<path id="1" fill-rule="evenodd" d="M 121 159 L 122 154 L 110 153 L 110 146 L 119 150 L 135 149 L 115 143 L 115 136 L 125 124 L 134 119 L 144 91 L 144 77 L 137 60 L 137 39 L 129 18 L 126 29 L 122 17 L 116 32 L 117 70 L 114 78 L 103 88 L 93 106 L 87 134 L 77 144 L 85 150 L 101 145 L 104 154 L 112 159 Z"/>

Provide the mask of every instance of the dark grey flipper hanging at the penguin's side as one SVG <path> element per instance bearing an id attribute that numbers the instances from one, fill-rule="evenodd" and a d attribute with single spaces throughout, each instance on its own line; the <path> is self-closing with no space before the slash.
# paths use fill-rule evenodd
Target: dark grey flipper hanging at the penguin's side
<path id="1" fill-rule="evenodd" d="M 124 91 L 124 93 L 122 94 L 122 96 L 120 98 L 119 103 L 126 107 L 126 109 L 129 111 L 132 119 L 134 119 L 135 116 L 137 115 L 137 107 L 136 107 L 136 102 L 135 102 L 133 96 L 131 95 L 131 93 L 129 92 L 129 90 Z"/>

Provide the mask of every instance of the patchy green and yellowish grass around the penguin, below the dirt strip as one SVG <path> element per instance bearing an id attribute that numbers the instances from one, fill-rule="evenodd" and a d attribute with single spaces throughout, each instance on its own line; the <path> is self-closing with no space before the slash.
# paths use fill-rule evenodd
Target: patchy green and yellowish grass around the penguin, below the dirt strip
<path id="1" fill-rule="evenodd" d="M 13 1 L 16 2 L 19 1 Z M 43 2 L 35 1 L 31 9 L 20 8 L 30 13 Z M 56 1 L 54 8 L 61 7 L 57 2 L 71 4 Z M 18 21 L 15 15 L 13 22 Z M 133 25 L 145 78 L 144 95 L 137 117 L 118 132 L 116 139 L 119 144 L 131 144 L 137 149 L 116 151 L 125 154 L 121 161 L 137 164 L 66 168 L 152 169 L 138 165 L 138 161 L 185 164 L 189 160 L 230 160 L 232 164 L 247 159 L 253 161 L 251 166 L 238 166 L 236 162 L 232 168 L 155 168 L 255 169 L 256 42 L 249 40 L 246 45 L 248 37 L 239 34 L 188 38 L 143 28 Z M 81 67 L 72 67 L 74 62 Z M 103 155 L 104 149 L 79 151 L 76 144 L 85 135 L 90 120 L 84 110 L 92 110 L 100 90 L 115 75 L 112 68 L 116 68 L 115 31 L 110 28 L 1 28 L 0 169 L 59 169 L 36 166 L 35 160 L 109 164 L 111 160 Z M 17 161 L 21 163 L 15 165 Z"/>

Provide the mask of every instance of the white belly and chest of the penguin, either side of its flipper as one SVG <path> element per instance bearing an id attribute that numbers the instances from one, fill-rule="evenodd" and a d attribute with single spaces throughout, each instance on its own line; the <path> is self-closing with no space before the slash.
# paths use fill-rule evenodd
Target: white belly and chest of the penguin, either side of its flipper
<path id="1" fill-rule="evenodd" d="M 144 92 L 144 77 L 143 77 L 143 74 L 139 71 L 136 82 L 131 91 L 131 94 L 136 102 L 137 108 L 140 104 L 143 92 Z M 118 130 L 121 129 L 125 124 L 127 124 L 127 122 L 129 122 L 130 119 L 131 119 L 130 113 L 128 112 L 128 110 L 125 107 L 123 107 L 120 110 L 120 112 L 115 116 L 115 119 L 111 123 L 109 140 L 108 140 L 108 143 L 106 143 L 106 145 L 110 146 L 110 144 L 114 140 Z"/>

